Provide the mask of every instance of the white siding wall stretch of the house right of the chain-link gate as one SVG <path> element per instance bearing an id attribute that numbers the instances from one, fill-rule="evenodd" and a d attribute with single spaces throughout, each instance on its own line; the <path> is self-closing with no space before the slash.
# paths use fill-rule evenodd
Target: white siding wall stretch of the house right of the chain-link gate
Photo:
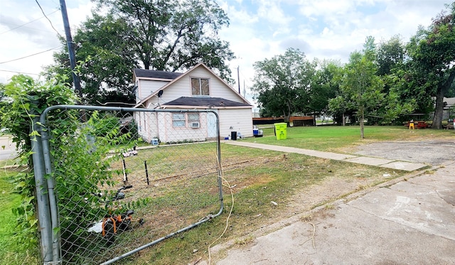
<path id="1" fill-rule="evenodd" d="M 222 139 L 230 136 L 231 131 L 237 131 L 242 137 L 253 136 L 253 119 L 251 109 L 219 109 L 220 136 Z"/>

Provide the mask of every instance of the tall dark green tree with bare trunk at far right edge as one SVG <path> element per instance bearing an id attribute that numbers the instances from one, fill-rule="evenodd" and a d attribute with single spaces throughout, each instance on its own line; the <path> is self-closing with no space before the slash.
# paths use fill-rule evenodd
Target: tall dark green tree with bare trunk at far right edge
<path id="1" fill-rule="evenodd" d="M 402 75 L 402 83 L 412 84 L 418 94 L 427 96 L 419 104 L 434 98 L 433 129 L 442 128 L 444 97 L 455 78 L 455 2 L 447 8 L 449 11 L 439 13 L 429 28 L 419 28 L 411 38 L 407 45 L 410 61 Z"/>

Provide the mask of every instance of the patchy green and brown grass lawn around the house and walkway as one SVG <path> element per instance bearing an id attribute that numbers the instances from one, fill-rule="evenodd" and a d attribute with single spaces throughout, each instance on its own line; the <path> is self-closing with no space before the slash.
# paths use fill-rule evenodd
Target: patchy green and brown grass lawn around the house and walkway
<path id="1" fill-rule="evenodd" d="M 278 141 L 273 129 L 264 129 L 264 137 L 239 141 L 349 153 L 353 146 L 373 141 L 419 141 L 445 139 L 454 135 L 455 131 L 447 130 L 410 131 L 404 126 L 366 126 L 365 139 L 360 139 L 358 126 L 319 126 L 287 128 L 285 140 Z M 148 159 L 152 181 L 150 186 L 144 183 L 144 173 L 141 172 L 144 158 Z M 145 244 L 167 232 L 182 228 L 183 219 L 196 222 L 208 212 L 218 210 L 216 185 L 213 181 L 216 174 L 205 174 L 216 168 L 216 160 L 213 158 L 213 143 L 160 146 L 139 150 L 138 156 L 127 158 L 129 179 L 140 180 L 144 185 L 141 187 L 134 183 L 127 198 L 146 197 L 150 200 L 146 205 L 134 208 L 138 217 L 146 219 L 144 227 L 125 232 L 121 239 L 128 239 L 131 244 Z M 194 264 L 200 259 L 208 259 L 208 247 L 220 237 L 227 221 L 225 234 L 215 244 L 230 239 L 236 244 L 245 244 L 245 236 L 261 227 L 406 174 L 402 171 L 386 172 L 384 168 L 374 166 L 228 144 L 222 144 L 221 158 L 223 178 L 232 187 L 234 198 L 232 201 L 231 190 L 224 187 L 223 214 L 188 232 L 144 249 L 140 254 L 129 256 L 121 261 L 122 264 Z M 112 168 L 119 170 L 122 165 L 113 164 Z M 186 174 L 186 171 L 191 171 L 193 175 Z M 8 223 L 14 224 L 11 207 L 18 203 L 18 198 L 9 192 L 11 186 L 4 181 L 8 175 L 7 171 L 0 173 L 4 193 L 1 209 L 4 216 L 13 218 Z M 232 205 L 232 214 L 229 215 Z M 13 229 L 14 225 L 1 227 L 0 242 L 8 250 L 0 251 L 0 258 L 8 260 L 8 264 L 21 264 L 21 260 L 30 255 L 14 248 L 14 242 L 9 240 Z M 119 254 L 127 249 L 123 246 L 116 247 L 120 248 Z M 132 245 L 127 247 L 129 249 Z"/>

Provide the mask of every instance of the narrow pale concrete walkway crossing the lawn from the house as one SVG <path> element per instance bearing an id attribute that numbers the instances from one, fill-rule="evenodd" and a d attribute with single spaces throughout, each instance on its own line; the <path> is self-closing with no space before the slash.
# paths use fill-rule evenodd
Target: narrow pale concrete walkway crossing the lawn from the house
<path id="1" fill-rule="evenodd" d="M 287 153 L 300 153 L 306 156 L 316 156 L 319 158 L 327 158 L 338 161 L 346 161 L 350 163 L 360 163 L 369 166 L 379 166 L 381 168 L 392 168 L 401 171 L 416 171 L 417 169 L 424 168 L 428 165 L 422 163 L 411 163 L 405 161 L 393 161 L 385 158 L 373 158 L 368 156 L 353 156 L 342 153 L 331 153 L 323 151 L 315 151 L 309 149 L 301 149 L 287 146 L 274 146 L 270 144 L 256 144 L 245 141 L 222 141 L 224 144 L 232 144 L 235 146 L 245 146 L 250 148 L 260 148 L 272 151 L 280 151 Z"/>

